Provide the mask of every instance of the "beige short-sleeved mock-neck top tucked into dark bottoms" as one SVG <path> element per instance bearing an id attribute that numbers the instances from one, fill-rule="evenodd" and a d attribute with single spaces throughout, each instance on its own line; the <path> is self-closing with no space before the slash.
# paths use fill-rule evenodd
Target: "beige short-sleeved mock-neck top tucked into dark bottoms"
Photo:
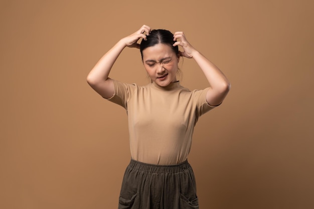
<path id="1" fill-rule="evenodd" d="M 108 100 L 127 111 L 132 159 L 162 165 L 185 161 L 197 120 L 214 108 L 206 102 L 208 88 L 190 91 L 179 81 L 167 87 L 112 81 L 114 95 Z"/>

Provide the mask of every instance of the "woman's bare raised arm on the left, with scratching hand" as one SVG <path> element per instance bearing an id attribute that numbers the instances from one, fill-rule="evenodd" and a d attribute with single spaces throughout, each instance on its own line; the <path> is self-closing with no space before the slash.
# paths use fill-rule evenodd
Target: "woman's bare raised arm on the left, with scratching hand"
<path id="1" fill-rule="evenodd" d="M 114 86 L 111 79 L 108 79 L 110 70 L 125 47 L 139 48 L 137 41 L 140 38 L 146 40 L 146 35 L 150 33 L 150 28 L 143 25 L 138 31 L 121 39 L 112 47 L 93 67 L 87 76 L 87 83 L 102 97 L 110 98 L 114 94 Z"/>

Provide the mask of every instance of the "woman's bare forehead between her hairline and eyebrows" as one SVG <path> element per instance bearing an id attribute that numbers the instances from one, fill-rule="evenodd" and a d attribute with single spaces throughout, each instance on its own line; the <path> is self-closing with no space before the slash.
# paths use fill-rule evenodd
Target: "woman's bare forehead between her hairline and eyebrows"
<path id="1" fill-rule="evenodd" d="M 147 47 L 142 51 L 143 60 L 160 60 L 165 57 L 176 56 L 172 47 L 166 44 L 156 44 L 152 47 Z"/>

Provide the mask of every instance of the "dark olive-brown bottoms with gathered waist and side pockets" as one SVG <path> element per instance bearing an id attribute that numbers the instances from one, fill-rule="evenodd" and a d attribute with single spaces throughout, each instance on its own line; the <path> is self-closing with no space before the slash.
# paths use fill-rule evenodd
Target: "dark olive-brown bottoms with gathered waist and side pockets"
<path id="1" fill-rule="evenodd" d="M 191 165 L 187 160 L 175 165 L 131 160 L 124 173 L 118 208 L 199 208 Z"/>

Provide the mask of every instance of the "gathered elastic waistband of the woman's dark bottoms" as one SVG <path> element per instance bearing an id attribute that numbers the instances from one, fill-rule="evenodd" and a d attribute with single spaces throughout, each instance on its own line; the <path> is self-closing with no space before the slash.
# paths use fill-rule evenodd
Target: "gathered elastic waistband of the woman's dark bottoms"
<path id="1" fill-rule="evenodd" d="M 179 164 L 173 165 L 155 165 L 148 164 L 144 162 L 139 162 L 131 159 L 130 164 L 128 165 L 129 169 L 136 169 L 149 173 L 178 173 L 191 168 L 188 160 L 181 162 Z"/>

